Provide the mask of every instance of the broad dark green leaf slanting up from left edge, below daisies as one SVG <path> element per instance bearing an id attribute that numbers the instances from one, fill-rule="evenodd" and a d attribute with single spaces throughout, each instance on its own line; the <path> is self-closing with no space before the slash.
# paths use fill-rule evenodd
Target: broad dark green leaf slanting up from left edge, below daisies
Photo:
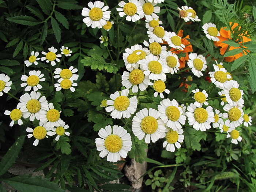
<path id="1" fill-rule="evenodd" d="M 10 167 L 14 164 L 25 141 L 25 138 L 25 135 L 20 136 L 4 155 L 3 159 L 0 162 L 0 176 L 7 172 L 8 169 L 10 169 Z"/>

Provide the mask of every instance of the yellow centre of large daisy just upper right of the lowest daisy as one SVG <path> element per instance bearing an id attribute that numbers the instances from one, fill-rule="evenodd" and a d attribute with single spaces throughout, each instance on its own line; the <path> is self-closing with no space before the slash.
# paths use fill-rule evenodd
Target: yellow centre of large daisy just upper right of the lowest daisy
<path id="1" fill-rule="evenodd" d="M 157 120 L 151 116 L 144 117 L 140 125 L 142 131 L 147 134 L 154 133 L 158 128 Z"/>

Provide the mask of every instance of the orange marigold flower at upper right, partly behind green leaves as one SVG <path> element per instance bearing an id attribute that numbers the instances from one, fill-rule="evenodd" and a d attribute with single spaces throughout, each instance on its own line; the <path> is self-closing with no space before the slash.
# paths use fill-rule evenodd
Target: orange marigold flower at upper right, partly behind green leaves
<path id="1" fill-rule="evenodd" d="M 230 25 L 231 25 L 231 22 L 230 22 Z M 233 30 L 234 28 L 236 28 L 238 26 L 238 23 L 234 23 L 233 26 L 231 27 L 231 29 Z M 219 41 L 215 41 L 214 42 L 214 45 L 215 46 L 218 46 L 218 47 L 221 47 L 221 49 L 219 50 L 221 55 L 225 54 L 226 50 L 227 50 L 227 47 L 229 46 L 228 44 L 225 44 L 225 43 L 222 43 L 223 41 L 227 41 L 227 39 L 231 39 L 231 36 L 230 36 L 230 30 L 225 30 L 227 27 L 222 27 L 221 30 L 219 31 L 219 33 L 221 34 L 221 36 L 219 36 Z M 238 28 L 238 30 L 240 30 L 241 27 Z M 246 31 L 247 33 L 247 31 Z M 248 42 L 248 41 L 252 41 L 252 39 L 249 39 L 247 37 L 245 37 L 243 34 L 240 35 L 243 39 L 243 42 Z M 241 42 L 238 42 L 239 44 L 242 44 L 242 41 Z M 244 48 L 246 48 L 244 46 Z M 233 49 L 241 49 L 241 48 L 238 48 L 238 47 L 233 47 L 233 46 L 230 46 L 229 50 L 233 50 Z M 245 51 L 243 51 L 244 54 L 246 54 Z M 238 59 L 239 57 L 242 57 L 243 56 L 243 52 L 241 53 L 238 53 L 238 54 L 235 54 L 233 56 L 229 56 L 229 57 L 225 57 L 225 61 L 227 62 L 231 62 L 231 61 L 234 61 L 236 59 Z M 249 52 L 249 50 L 248 50 Z"/>

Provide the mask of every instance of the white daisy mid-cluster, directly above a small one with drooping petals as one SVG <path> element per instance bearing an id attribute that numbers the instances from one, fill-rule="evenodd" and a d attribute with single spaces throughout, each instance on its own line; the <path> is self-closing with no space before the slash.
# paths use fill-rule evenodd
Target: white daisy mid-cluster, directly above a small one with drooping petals
<path id="1" fill-rule="evenodd" d="M 145 59 L 139 61 L 140 68 L 144 70 L 145 75 L 149 75 L 151 80 L 166 80 L 166 73 L 169 71 L 168 66 L 163 60 L 158 60 L 157 56 L 149 54 Z"/>

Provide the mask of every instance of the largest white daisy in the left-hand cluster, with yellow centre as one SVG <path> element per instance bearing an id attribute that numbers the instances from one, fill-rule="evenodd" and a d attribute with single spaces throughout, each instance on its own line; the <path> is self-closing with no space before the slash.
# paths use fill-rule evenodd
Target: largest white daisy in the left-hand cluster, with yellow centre
<path id="1" fill-rule="evenodd" d="M 40 115 L 48 110 L 48 101 L 45 96 L 41 96 L 41 93 L 31 91 L 31 93 L 25 93 L 20 96 L 20 103 L 17 108 L 26 108 L 27 112 L 23 113 L 24 118 L 28 118 L 30 121 L 34 121 L 35 118 L 40 120 Z M 40 98 L 40 99 L 39 99 Z M 39 99 L 39 100 L 38 100 Z"/>

